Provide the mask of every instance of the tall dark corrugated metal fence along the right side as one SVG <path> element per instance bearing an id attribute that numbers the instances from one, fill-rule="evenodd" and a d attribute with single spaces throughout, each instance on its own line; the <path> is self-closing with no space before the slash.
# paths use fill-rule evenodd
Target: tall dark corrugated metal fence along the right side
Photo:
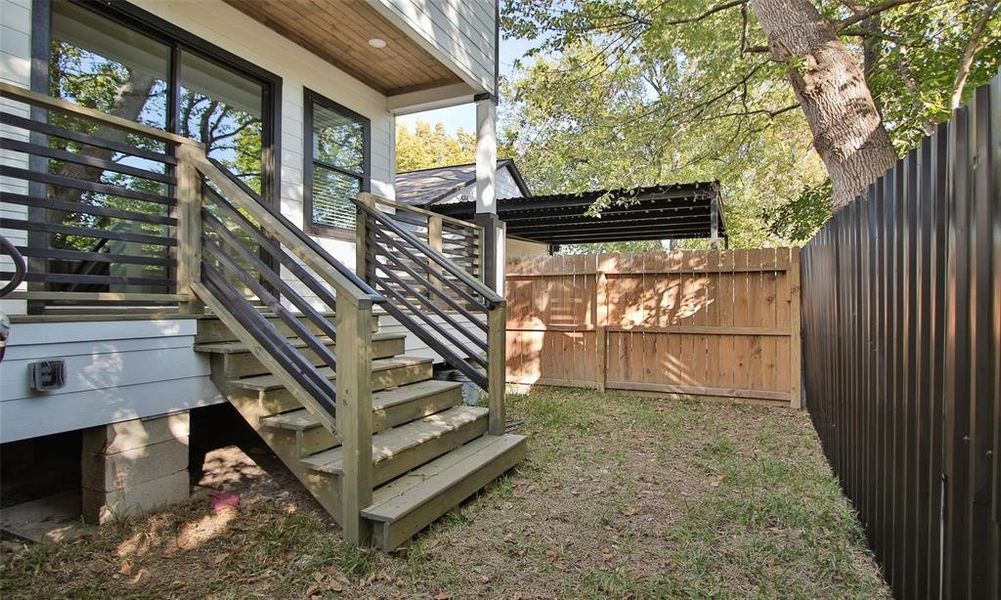
<path id="1" fill-rule="evenodd" d="M 806 404 L 899 598 L 998 598 L 1001 75 L 802 253 Z"/>

